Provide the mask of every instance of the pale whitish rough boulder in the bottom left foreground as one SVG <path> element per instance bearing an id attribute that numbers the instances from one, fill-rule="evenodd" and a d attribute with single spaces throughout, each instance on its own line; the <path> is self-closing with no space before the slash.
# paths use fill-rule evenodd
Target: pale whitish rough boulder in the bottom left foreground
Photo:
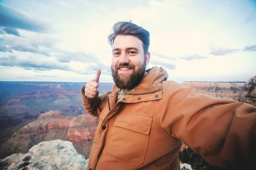
<path id="1" fill-rule="evenodd" d="M 26 154 L 15 153 L 0 160 L 3 170 L 86 170 L 88 160 L 69 141 L 41 142 Z"/>

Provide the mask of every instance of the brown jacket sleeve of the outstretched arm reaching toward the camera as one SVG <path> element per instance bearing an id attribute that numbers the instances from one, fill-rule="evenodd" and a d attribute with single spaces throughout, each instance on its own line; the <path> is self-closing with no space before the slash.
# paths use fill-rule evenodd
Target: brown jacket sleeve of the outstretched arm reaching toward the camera
<path id="1" fill-rule="evenodd" d="M 170 83 L 159 111 L 161 126 L 210 164 L 230 170 L 253 169 L 256 162 L 256 107 L 201 94 Z M 171 92 L 169 92 L 171 91 Z"/>

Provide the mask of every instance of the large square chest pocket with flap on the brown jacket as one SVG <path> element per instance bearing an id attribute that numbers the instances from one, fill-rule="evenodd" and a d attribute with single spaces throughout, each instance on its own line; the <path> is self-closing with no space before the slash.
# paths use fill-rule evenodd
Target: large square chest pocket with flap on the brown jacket
<path id="1" fill-rule="evenodd" d="M 107 155 L 134 167 L 143 164 L 153 116 L 122 113 L 117 116 L 107 144 Z"/>

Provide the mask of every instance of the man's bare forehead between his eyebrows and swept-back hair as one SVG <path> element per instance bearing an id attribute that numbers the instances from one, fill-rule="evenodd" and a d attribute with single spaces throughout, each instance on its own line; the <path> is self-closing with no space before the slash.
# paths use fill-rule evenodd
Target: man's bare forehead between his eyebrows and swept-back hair
<path id="1" fill-rule="evenodd" d="M 132 35 L 118 35 L 113 42 L 112 49 L 125 49 L 129 47 L 135 47 L 140 50 L 140 48 L 143 48 L 143 43 L 138 37 Z"/>

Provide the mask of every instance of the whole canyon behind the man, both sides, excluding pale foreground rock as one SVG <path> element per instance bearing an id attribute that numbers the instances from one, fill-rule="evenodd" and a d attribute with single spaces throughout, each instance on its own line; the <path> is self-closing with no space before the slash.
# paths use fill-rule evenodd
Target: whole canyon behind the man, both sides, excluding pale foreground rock
<path id="1" fill-rule="evenodd" d="M 1 159 L 13 153 L 27 153 L 40 142 L 56 139 L 72 142 L 78 153 L 89 158 L 99 119 L 86 113 L 82 106 L 81 87 L 84 83 L 1 83 L 8 92 L 0 91 Z M 256 105 L 256 76 L 247 82 L 182 84 L 217 98 Z M 100 94 L 111 90 L 112 86 L 103 83 L 99 86 Z M 180 161 L 191 164 L 192 169 L 207 170 L 210 167 L 220 170 L 209 165 L 185 143 L 180 150 Z"/>

